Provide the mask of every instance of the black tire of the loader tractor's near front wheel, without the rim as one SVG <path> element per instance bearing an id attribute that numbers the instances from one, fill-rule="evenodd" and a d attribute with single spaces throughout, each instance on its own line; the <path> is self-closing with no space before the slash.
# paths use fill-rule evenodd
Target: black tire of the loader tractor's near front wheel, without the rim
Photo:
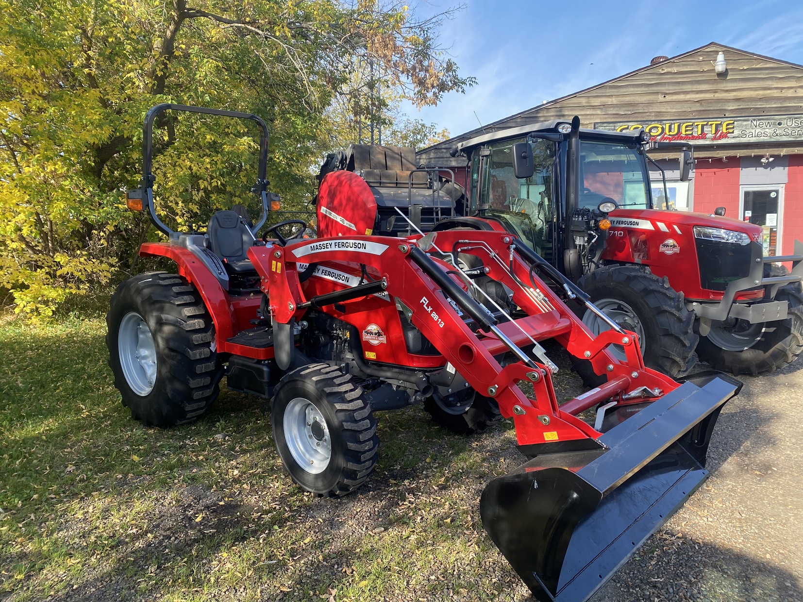
<path id="1" fill-rule="evenodd" d="M 293 458 L 284 435 L 284 411 L 296 397 L 304 397 L 324 416 L 332 438 L 332 455 L 319 474 L 305 470 Z M 365 482 L 377 463 L 377 420 L 365 391 L 350 374 L 332 364 L 308 364 L 287 372 L 271 400 L 273 439 L 282 464 L 293 482 L 322 496 L 351 493 Z"/>

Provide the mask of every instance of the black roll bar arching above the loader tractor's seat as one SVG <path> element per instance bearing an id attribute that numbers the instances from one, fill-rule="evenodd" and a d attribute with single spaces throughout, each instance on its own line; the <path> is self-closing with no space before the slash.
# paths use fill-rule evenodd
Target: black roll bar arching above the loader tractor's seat
<path id="1" fill-rule="evenodd" d="M 158 115 L 165 111 L 184 111 L 189 113 L 204 113 L 206 115 L 217 115 L 221 117 L 234 117 L 235 119 L 245 119 L 254 121 L 259 126 L 259 167 L 257 169 L 257 179 L 251 192 L 255 193 L 262 200 L 262 214 L 259 216 L 259 222 L 254 226 L 253 232 L 259 231 L 264 226 L 267 220 L 267 212 L 269 205 L 267 202 L 267 187 L 270 182 L 267 181 L 267 125 L 264 120 L 251 113 L 241 113 L 237 111 L 223 111 L 217 108 L 206 107 L 193 107 L 189 104 L 171 104 L 162 103 L 150 108 L 149 112 L 145 114 L 145 124 L 142 128 L 142 181 L 140 188 L 145 195 L 143 200 L 148 204 L 148 213 L 151 222 L 163 233 L 173 234 L 173 230 L 159 219 L 156 214 L 156 206 L 153 203 L 153 182 L 156 181 L 156 176 L 153 175 L 153 121 Z"/>

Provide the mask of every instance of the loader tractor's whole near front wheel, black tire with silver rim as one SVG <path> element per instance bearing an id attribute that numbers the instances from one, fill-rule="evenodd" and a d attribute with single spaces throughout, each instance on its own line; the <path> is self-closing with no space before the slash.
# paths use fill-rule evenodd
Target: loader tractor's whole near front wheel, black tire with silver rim
<path id="1" fill-rule="evenodd" d="M 355 377 L 332 364 L 302 366 L 279 380 L 271 426 L 284 468 L 314 494 L 349 494 L 377 463 L 371 405 Z"/>

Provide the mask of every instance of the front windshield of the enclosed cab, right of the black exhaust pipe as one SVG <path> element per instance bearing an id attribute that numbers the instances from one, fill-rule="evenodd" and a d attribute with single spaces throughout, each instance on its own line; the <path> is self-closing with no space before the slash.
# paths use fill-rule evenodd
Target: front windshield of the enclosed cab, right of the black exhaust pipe
<path id="1" fill-rule="evenodd" d="M 627 209 L 649 207 L 650 177 L 634 146 L 581 140 L 579 206 L 596 208 L 606 198 Z"/>

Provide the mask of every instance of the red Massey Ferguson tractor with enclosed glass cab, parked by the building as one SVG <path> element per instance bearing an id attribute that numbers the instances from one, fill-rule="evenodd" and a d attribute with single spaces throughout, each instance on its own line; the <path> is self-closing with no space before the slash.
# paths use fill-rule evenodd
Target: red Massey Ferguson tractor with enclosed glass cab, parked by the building
<path id="1" fill-rule="evenodd" d="M 761 226 L 669 209 L 653 197 L 647 152 L 677 149 L 680 179 L 691 146 L 650 142 L 643 130 L 579 128 L 579 119 L 488 133 L 460 143 L 467 157 L 465 216 L 450 227 L 515 233 L 585 291 L 626 330 L 637 332 L 646 364 L 683 376 L 700 360 L 758 376 L 803 351 L 803 246 L 790 256 L 763 253 Z M 658 185 L 660 190 L 660 185 Z M 658 195 L 656 195 L 658 196 Z M 793 262 L 792 273 L 780 265 Z M 609 328 L 581 308 L 592 332 Z M 621 356 L 620 348 L 611 352 Z M 587 383 L 600 379 L 576 364 Z"/>

